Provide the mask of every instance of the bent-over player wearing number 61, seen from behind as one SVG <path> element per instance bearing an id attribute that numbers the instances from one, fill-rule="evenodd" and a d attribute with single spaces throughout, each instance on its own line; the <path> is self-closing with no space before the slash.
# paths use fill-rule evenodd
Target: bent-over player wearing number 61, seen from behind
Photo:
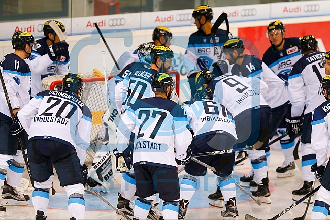
<path id="1" fill-rule="evenodd" d="M 232 116 L 223 105 L 212 101 L 211 89 L 204 88 L 204 84 L 209 84 L 209 82 L 204 82 L 203 75 L 206 75 L 206 79 L 212 80 L 212 78 L 208 78 L 210 74 L 206 74 L 206 72 L 211 71 L 203 70 L 197 73 L 197 85 L 201 87 L 197 89 L 195 102 L 191 104 L 186 102 L 182 105 L 187 112 L 190 130 L 193 131 L 192 142 L 189 146 L 192 154 L 233 149 L 237 142 L 235 122 L 232 121 Z M 234 169 L 235 153 L 205 156 L 200 160 L 210 166 L 215 166 L 223 159 L 223 155 L 229 156 L 229 164 L 221 171 L 214 172 L 226 202 L 226 209 L 221 212 L 221 216 L 237 217 L 235 180 L 231 175 Z M 206 169 L 194 161 L 185 165 L 186 173 L 180 186 L 182 190 L 180 191 L 179 219 L 185 218 L 189 201 L 197 188 L 197 180 L 199 176 L 206 175 Z M 220 206 L 223 207 L 223 201 L 220 202 L 222 203 Z"/>

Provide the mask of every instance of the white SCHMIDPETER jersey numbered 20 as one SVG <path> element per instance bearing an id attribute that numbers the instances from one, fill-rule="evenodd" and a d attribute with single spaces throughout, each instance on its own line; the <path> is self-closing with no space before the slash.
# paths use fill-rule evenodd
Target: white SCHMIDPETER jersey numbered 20
<path id="1" fill-rule="evenodd" d="M 28 140 L 46 139 L 74 146 L 83 165 L 90 144 L 92 114 L 68 91 L 39 92 L 17 114 Z"/>

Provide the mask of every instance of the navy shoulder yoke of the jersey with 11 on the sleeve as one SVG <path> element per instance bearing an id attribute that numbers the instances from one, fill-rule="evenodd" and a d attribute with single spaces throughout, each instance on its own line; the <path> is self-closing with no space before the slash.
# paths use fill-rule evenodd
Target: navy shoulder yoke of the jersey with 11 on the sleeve
<path id="1" fill-rule="evenodd" d="M 7 54 L 1 61 L 0 66 L 5 72 L 20 76 L 31 76 L 31 71 L 26 62 L 14 53 Z"/>

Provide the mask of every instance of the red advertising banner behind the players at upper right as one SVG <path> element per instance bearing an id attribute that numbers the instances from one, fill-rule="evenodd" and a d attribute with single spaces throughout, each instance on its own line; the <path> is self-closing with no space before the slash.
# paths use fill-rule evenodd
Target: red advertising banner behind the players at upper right
<path id="1" fill-rule="evenodd" d="M 329 29 L 330 22 L 315 22 L 315 23 L 302 23 L 302 24 L 284 24 L 286 29 L 286 37 L 301 37 L 303 35 L 314 35 L 318 39 L 319 49 L 328 51 L 330 50 Z M 253 53 L 259 58 L 270 47 L 270 42 L 266 38 L 267 26 L 259 27 L 243 27 L 238 28 L 238 36 L 249 39 L 244 41 L 246 48 L 258 49 L 259 54 Z M 254 45 L 252 45 L 254 44 Z M 324 47 L 323 47 L 324 45 Z M 254 50 L 255 51 L 255 50 Z M 326 52 L 324 51 L 324 52 Z"/>

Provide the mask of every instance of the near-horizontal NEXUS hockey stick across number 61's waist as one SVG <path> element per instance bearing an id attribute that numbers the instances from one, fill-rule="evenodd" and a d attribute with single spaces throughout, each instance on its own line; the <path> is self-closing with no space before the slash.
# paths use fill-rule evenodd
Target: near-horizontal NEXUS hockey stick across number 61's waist
<path id="1" fill-rule="evenodd" d="M 268 126 L 265 126 L 265 128 L 263 128 L 263 131 L 259 137 L 259 140 L 251 147 L 248 146 L 248 147 L 243 147 L 243 148 L 238 148 L 238 149 L 196 153 L 196 154 L 192 154 L 191 157 L 197 158 L 199 156 L 209 156 L 209 155 L 217 155 L 217 154 L 225 154 L 225 153 L 242 152 L 242 151 L 246 151 L 246 150 L 256 150 L 256 149 L 259 149 L 260 147 L 262 147 L 262 145 L 267 141 L 269 133 L 270 133 L 270 128 Z"/>

